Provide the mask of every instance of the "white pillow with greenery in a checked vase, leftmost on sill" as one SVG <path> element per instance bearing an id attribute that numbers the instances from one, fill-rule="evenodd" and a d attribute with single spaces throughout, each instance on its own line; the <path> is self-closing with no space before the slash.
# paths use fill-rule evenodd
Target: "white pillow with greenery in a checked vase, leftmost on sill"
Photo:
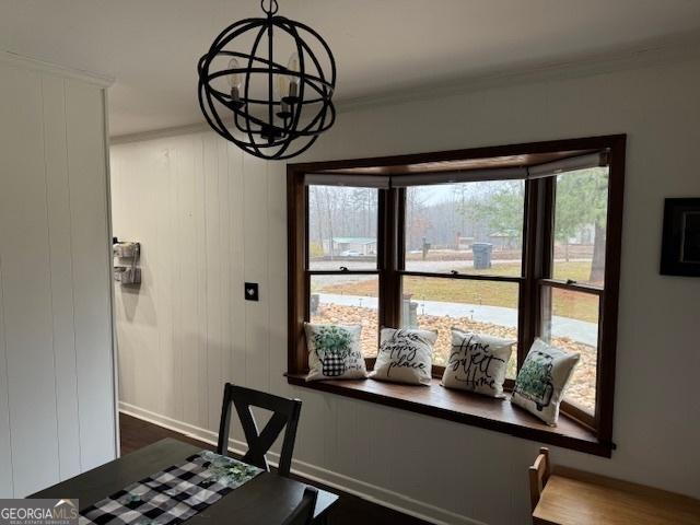
<path id="1" fill-rule="evenodd" d="M 308 348 L 306 381 L 363 380 L 368 376 L 360 348 L 362 326 L 304 325 Z"/>

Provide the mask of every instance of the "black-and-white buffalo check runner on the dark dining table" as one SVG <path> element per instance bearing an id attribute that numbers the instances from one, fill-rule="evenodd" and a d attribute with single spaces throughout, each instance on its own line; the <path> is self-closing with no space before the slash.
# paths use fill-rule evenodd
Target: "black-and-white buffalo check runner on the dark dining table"
<path id="1" fill-rule="evenodd" d="M 262 470 L 202 451 L 80 513 L 80 525 L 175 525 L 215 503 Z"/>

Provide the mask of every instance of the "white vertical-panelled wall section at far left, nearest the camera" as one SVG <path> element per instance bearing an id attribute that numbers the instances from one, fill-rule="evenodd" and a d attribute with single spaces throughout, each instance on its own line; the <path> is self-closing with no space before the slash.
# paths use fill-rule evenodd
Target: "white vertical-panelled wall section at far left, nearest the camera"
<path id="1" fill-rule="evenodd" d="M 116 455 L 104 88 L 55 69 L 0 60 L 0 498 Z"/>

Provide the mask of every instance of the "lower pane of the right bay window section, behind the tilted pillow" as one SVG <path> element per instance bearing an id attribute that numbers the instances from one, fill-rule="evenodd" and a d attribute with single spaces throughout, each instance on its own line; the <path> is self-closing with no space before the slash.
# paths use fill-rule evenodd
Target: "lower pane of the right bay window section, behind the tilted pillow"
<path id="1" fill-rule="evenodd" d="M 580 353 L 564 399 L 593 415 L 598 366 L 598 296 L 545 287 L 540 337 L 567 352 Z"/>

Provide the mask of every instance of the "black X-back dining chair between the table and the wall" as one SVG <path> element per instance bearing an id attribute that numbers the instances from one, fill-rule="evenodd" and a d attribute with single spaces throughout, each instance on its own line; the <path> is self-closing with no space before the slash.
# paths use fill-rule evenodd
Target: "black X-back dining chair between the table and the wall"
<path id="1" fill-rule="evenodd" d="M 292 453 L 294 452 L 294 441 L 296 439 L 296 425 L 302 410 L 302 401 L 299 399 L 288 399 L 265 392 L 236 386 L 226 383 L 223 390 L 223 404 L 221 407 L 221 423 L 219 425 L 219 444 L 217 453 L 228 455 L 229 432 L 231 430 L 231 405 L 236 408 L 245 441 L 248 444 L 248 452 L 243 456 L 243 460 L 256 467 L 269 470 L 265 455 L 268 453 L 275 440 L 284 430 L 282 451 L 278 472 L 281 476 L 289 476 L 292 466 Z M 272 412 L 272 417 L 267 422 L 262 431 L 258 431 L 258 425 L 253 416 L 252 407 L 264 408 Z"/>

